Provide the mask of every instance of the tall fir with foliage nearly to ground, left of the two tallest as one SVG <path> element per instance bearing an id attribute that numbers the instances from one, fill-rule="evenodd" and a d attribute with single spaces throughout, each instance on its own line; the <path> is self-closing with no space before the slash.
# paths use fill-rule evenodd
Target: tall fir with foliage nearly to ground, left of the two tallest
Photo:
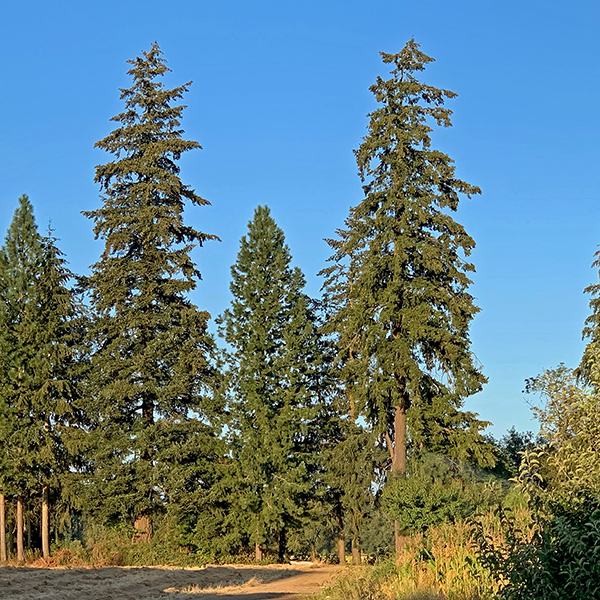
<path id="1" fill-rule="evenodd" d="M 200 279 L 192 248 L 217 238 L 183 222 L 186 202 L 208 204 L 182 182 L 177 164 L 200 148 L 183 139 L 185 107 L 176 104 L 190 84 L 164 87 L 169 69 L 156 43 L 129 63 L 125 110 L 112 119 L 119 126 L 96 144 L 114 156 L 96 167 L 103 206 L 84 213 L 105 244 L 86 280 L 95 473 L 88 506 L 104 522 L 135 522 L 149 538 L 153 515 L 174 493 L 163 458 L 173 455 L 177 432 L 188 431 L 200 448 L 215 437 L 207 422 L 215 376 L 209 314 L 188 294 Z"/>

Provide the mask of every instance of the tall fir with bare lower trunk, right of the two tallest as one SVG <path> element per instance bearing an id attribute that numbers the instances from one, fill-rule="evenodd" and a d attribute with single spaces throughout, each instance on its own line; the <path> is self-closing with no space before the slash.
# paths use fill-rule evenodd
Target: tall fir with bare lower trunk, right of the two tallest
<path id="1" fill-rule="evenodd" d="M 391 78 L 370 88 L 379 106 L 355 153 L 365 197 L 328 240 L 329 328 L 351 404 L 385 437 L 393 471 L 406 470 L 407 425 L 425 448 L 460 435 L 461 452 L 485 463 L 485 423 L 460 411 L 485 382 L 469 340 L 475 242 L 451 216 L 460 194 L 480 190 L 430 138 L 430 122 L 451 125 L 444 102 L 456 94 L 417 79 L 433 59 L 414 40 L 382 58 Z"/>

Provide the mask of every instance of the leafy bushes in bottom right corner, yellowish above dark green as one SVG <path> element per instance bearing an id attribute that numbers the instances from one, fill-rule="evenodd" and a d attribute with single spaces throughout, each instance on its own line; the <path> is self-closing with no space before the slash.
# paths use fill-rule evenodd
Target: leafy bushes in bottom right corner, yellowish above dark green
<path id="1" fill-rule="evenodd" d="M 508 512 L 504 544 L 479 535 L 480 561 L 501 584 L 501 600 L 600 599 L 600 386 L 580 387 L 564 366 L 527 382 L 546 443 L 523 453 L 519 485 L 532 529 Z"/>

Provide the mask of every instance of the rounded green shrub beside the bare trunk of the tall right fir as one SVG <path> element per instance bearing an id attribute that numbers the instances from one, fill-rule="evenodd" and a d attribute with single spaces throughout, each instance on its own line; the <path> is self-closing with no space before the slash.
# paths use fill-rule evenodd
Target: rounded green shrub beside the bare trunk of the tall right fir
<path id="1" fill-rule="evenodd" d="M 501 498 L 499 484 L 481 480 L 447 457 L 429 454 L 413 458 L 407 476 L 392 479 L 384 490 L 383 506 L 403 534 L 414 534 L 486 512 Z"/>

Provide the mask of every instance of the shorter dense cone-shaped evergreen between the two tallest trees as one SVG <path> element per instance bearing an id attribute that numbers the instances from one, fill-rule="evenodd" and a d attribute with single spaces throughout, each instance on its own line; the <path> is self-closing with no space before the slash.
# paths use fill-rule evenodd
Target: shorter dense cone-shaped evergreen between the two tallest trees
<path id="1" fill-rule="evenodd" d="M 312 491 L 319 406 L 319 339 L 304 277 L 291 266 L 283 232 L 259 206 L 231 269 L 231 307 L 221 317 L 230 347 L 231 444 L 236 514 L 256 559 L 305 514 Z"/>

